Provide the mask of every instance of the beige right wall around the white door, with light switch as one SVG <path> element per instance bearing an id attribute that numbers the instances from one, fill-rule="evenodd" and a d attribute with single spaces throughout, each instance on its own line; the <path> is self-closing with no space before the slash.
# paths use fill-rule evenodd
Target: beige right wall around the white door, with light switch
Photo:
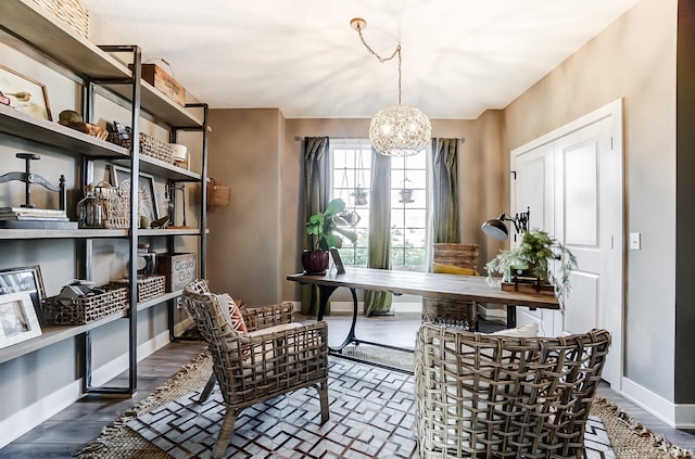
<path id="1" fill-rule="evenodd" d="M 505 110 L 507 151 L 624 98 L 626 377 L 673 401 L 675 0 L 643 0 Z M 666 222 L 666 224 L 665 224 Z"/>

